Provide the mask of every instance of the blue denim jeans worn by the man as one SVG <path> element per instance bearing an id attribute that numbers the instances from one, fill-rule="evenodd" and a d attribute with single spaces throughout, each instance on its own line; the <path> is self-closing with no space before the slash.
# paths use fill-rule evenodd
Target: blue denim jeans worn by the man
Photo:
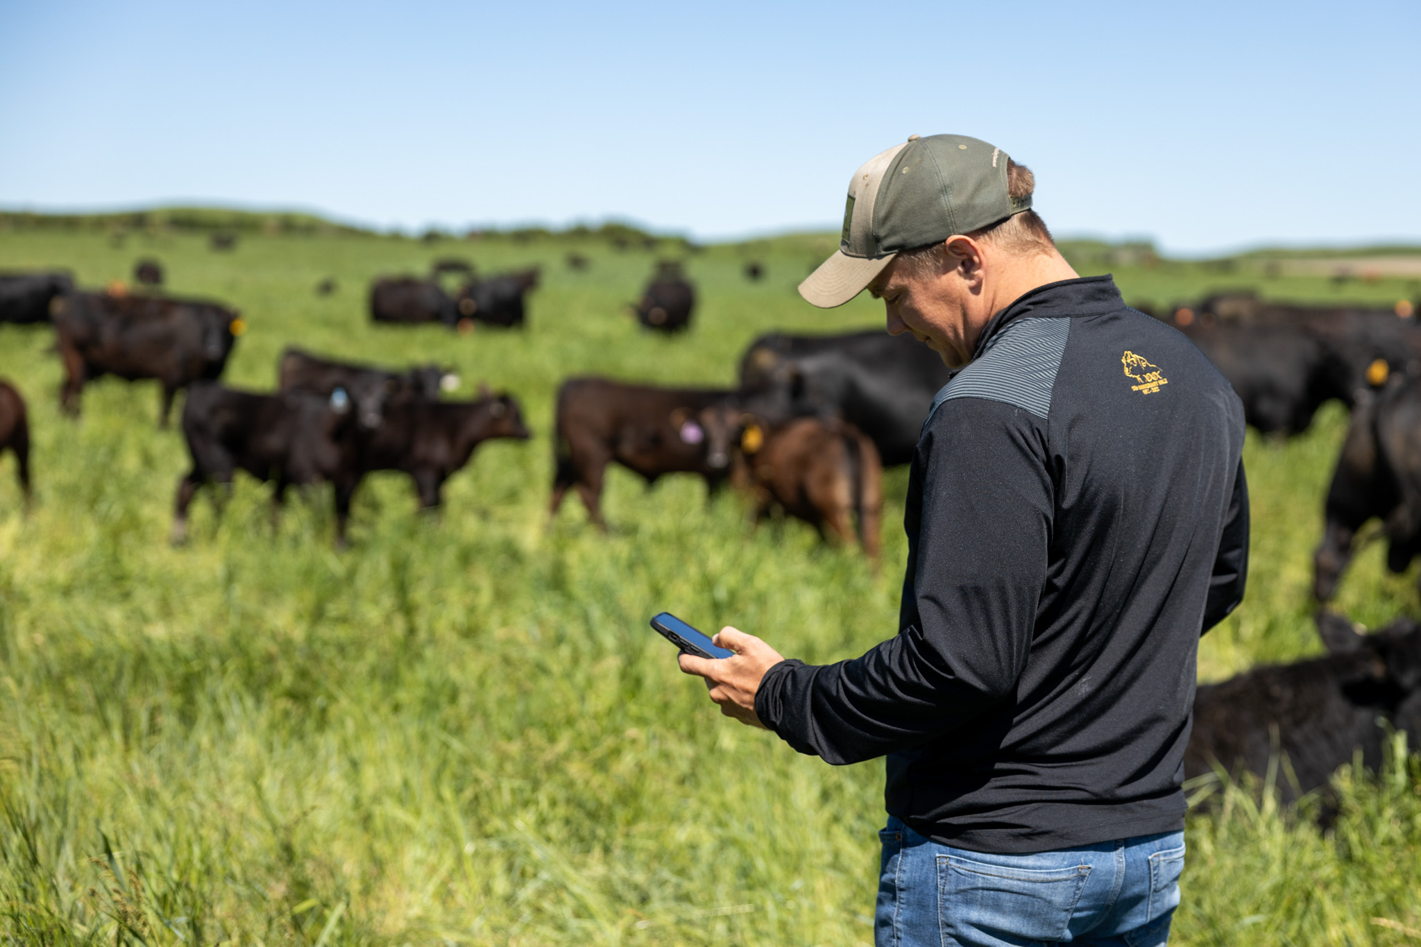
<path id="1" fill-rule="evenodd" d="M 1179 904 L 1184 832 L 1033 855 L 938 845 L 897 818 L 878 833 L 878 947 L 1162 947 Z"/>

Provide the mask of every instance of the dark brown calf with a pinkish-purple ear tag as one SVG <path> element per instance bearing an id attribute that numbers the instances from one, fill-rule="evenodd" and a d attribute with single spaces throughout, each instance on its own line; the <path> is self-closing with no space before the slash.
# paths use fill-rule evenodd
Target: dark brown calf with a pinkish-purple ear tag
<path id="1" fill-rule="evenodd" d="M 557 390 L 553 501 L 557 515 L 568 487 L 605 530 L 601 496 L 607 464 L 641 474 L 649 487 L 668 473 L 696 473 L 713 493 L 729 474 L 729 457 L 706 459 L 705 430 L 696 415 L 733 398 L 726 389 L 622 385 L 603 378 L 571 378 Z"/>

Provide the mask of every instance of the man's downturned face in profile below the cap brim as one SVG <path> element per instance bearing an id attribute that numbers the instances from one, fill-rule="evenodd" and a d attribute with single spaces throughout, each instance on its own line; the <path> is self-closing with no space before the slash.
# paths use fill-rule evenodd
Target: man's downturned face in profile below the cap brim
<path id="1" fill-rule="evenodd" d="M 972 358 L 976 338 L 968 338 L 968 327 L 976 294 L 956 270 L 911 275 L 894 260 L 868 290 L 884 301 L 888 335 L 912 334 L 949 368 Z"/>

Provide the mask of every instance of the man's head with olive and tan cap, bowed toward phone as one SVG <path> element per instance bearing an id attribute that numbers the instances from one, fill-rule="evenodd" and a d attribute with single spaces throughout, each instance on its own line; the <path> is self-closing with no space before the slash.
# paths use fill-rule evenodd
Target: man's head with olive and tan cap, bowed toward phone
<path id="1" fill-rule="evenodd" d="M 993 312 L 1076 275 L 1032 210 L 1034 187 L 1030 169 L 986 142 L 914 136 L 855 172 L 840 250 L 800 295 L 834 307 L 867 288 L 891 334 L 961 365 Z"/>

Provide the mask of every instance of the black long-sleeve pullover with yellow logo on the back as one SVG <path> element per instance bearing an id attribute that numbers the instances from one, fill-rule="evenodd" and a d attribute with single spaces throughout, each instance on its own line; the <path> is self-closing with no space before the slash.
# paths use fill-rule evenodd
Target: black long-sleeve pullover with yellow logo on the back
<path id="1" fill-rule="evenodd" d="M 800 752 L 888 755 L 939 842 L 1040 852 L 1177 831 L 1199 635 L 1243 596 L 1243 410 L 1110 277 L 1033 290 L 934 399 L 899 632 L 787 660 L 756 713 Z"/>

